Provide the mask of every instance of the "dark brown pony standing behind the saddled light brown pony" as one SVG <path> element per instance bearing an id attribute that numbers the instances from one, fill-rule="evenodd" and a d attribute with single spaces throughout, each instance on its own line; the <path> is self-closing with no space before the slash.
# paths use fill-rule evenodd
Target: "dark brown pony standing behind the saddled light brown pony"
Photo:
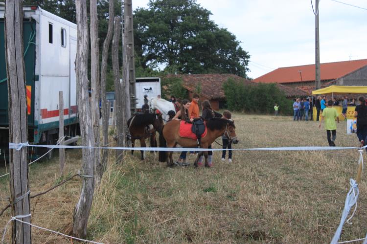
<path id="1" fill-rule="evenodd" d="M 132 147 L 135 147 L 135 140 L 140 140 L 140 146 L 145 147 L 145 139 L 149 137 L 150 146 L 157 147 L 156 131 L 161 132 L 163 121 L 161 114 L 155 113 L 138 113 L 127 121 L 130 132 L 128 139 L 131 139 Z M 140 151 L 141 160 L 145 158 L 145 151 Z M 131 150 L 134 155 L 134 150 Z"/>

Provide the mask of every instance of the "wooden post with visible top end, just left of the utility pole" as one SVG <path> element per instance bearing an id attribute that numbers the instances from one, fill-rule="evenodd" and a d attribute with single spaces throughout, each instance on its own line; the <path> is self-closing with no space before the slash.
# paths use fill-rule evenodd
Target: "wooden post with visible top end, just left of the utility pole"
<path id="1" fill-rule="evenodd" d="M 121 18 L 116 16 L 114 19 L 114 38 L 112 39 L 112 67 L 114 70 L 114 83 L 115 83 L 115 99 L 116 106 L 114 105 L 114 109 L 116 110 L 116 127 L 117 127 L 117 147 L 124 146 L 124 138 L 126 134 L 123 134 L 123 92 L 122 86 L 120 82 L 120 68 L 118 64 L 118 42 L 120 37 L 120 23 Z M 116 150 L 116 163 L 122 162 L 123 151 Z"/>

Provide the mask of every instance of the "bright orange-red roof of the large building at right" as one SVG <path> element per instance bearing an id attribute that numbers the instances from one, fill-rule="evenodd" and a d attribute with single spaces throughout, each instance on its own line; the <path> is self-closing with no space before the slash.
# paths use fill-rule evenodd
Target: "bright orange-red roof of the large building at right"
<path id="1" fill-rule="evenodd" d="M 367 66 L 367 59 L 324 63 L 320 65 L 321 80 L 335 80 L 365 66 Z M 257 83 L 291 83 L 302 81 L 315 81 L 315 65 L 281 67 L 253 80 L 253 82 Z"/>

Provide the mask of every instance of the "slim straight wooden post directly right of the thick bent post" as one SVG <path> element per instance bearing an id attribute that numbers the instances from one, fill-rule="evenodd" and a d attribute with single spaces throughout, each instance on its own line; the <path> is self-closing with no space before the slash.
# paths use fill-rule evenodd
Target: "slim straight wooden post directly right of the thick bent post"
<path id="1" fill-rule="evenodd" d="M 92 123 L 94 129 L 94 142 L 95 145 L 99 145 L 101 139 L 99 136 L 99 97 L 100 97 L 100 85 L 99 85 L 99 46 L 98 46 L 98 18 L 97 18 L 97 0 L 90 1 L 90 13 L 91 13 L 91 112 Z M 95 149 L 95 182 L 97 185 L 101 182 L 103 175 L 101 165 L 100 150 Z"/>

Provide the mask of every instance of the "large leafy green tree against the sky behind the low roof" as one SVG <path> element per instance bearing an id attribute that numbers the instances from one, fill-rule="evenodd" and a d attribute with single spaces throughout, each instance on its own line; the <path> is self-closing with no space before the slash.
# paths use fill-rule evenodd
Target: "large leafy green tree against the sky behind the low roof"
<path id="1" fill-rule="evenodd" d="M 150 0 L 148 6 L 134 13 L 139 66 L 247 77 L 250 55 L 232 33 L 210 21 L 210 11 L 196 0 Z"/>

